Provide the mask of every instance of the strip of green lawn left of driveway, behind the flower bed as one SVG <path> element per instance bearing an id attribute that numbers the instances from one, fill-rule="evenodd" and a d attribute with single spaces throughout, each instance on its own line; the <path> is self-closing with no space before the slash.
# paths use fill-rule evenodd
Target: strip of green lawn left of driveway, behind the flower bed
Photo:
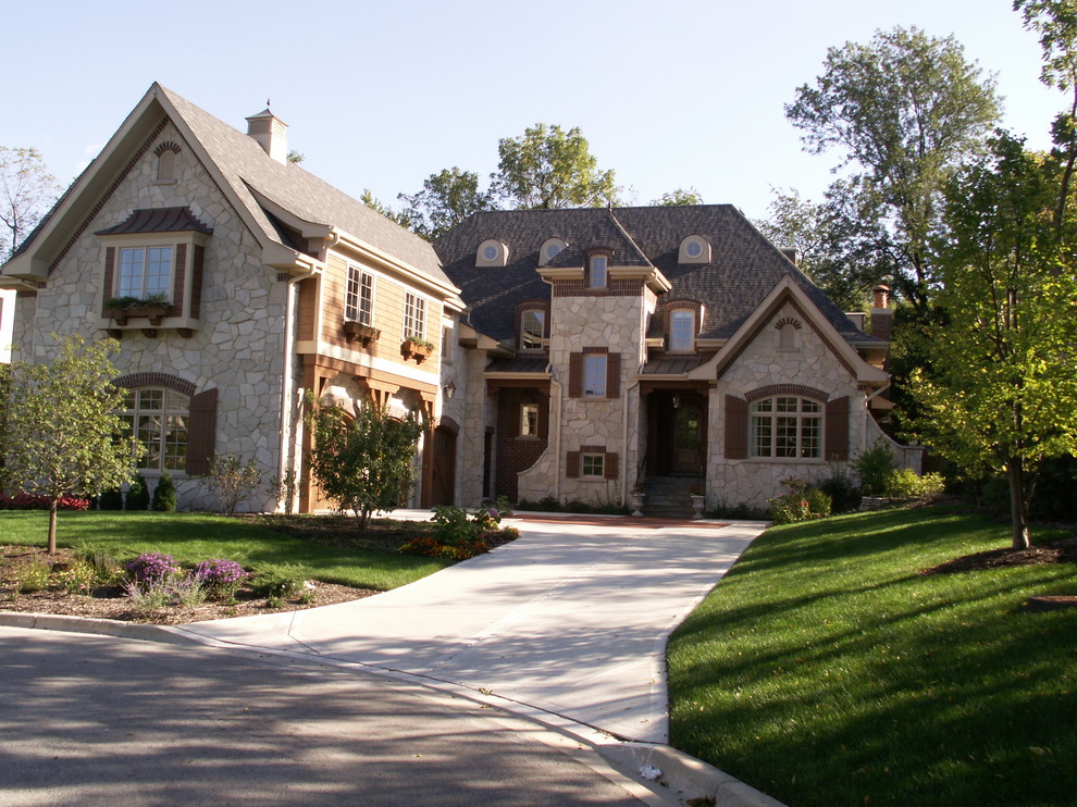
<path id="1" fill-rule="evenodd" d="M 45 546 L 48 513 L 0 512 L 0 544 Z M 311 580 L 388 591 L 424 578 L 453 561 L 399 555 L 358 543 L 294 537 L 253 520 L 211 513 L 61 512 L 57 543 L 85 547 L 124 560 L 145 551 L 172 555 L 183 563 L 226 558 L 256 572 L 268 566 L 298 567 Z"/>

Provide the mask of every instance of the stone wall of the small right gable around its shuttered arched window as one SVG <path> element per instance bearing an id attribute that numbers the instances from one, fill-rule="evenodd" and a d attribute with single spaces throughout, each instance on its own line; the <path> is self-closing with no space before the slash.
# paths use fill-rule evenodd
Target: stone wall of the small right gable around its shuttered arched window
<path id="1" fill-rule="evenodd" d="M 802 327 L 795 331 L 796 347 L 778 347 L 776 325 L 792 319 Z M 707 463 L 707 499 L 713 505 L 748 505 L 765 509 L 767 499 L 788 493 L 781 481 L 789 476 L 818 480 L 826 476 L 830 463 L 825 460 L 770 459 L 727 460 L 725 457 L 725 396 L 743 398 L 747 393 L 775 384 L 797 384 L 827 393 L 828 399 L 850 396 L 849 451 L 855 456 L 864 448 L 864 394 L 849 370 L 812 331 L 791 306 L 784 306 L 764 327 L 756 339 L 718 381 L 710 395 L 710 456 Z"/>

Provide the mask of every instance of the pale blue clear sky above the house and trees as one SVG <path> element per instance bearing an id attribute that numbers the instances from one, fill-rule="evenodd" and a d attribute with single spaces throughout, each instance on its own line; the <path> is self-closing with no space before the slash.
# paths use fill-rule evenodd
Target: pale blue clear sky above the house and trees
<path id="1" fill-rule="evenodd" d="M 804 152 L 783 113 L 830 46 L 895 25 L 953 34 L 1036 147 L 1065 105 L 1010 0 L 748 5 L 20 2 L 3 13 L 0 145 L 38 148 L 66 182 L 158 80 L 240 129 L 271 99 L 304 167 L 356 197 L 396 204 L 451 165 L 485 176 L 499 138 L 542 121 L 580 126 L 629 201 L 691 186 L 762 218 L 771 188 L 818 199 L 831 179 L 838 156 Z"/>

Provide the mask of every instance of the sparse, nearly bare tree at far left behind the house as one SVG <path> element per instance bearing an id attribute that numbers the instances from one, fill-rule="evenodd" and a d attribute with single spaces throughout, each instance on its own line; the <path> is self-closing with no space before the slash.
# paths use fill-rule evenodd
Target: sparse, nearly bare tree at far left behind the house
<path id="1" fill-rule="evenodd" d="M 0 146 L 0 262 L 15 253 L 60 195 L 60 183 L 49 173 L 37 149 Z"/>

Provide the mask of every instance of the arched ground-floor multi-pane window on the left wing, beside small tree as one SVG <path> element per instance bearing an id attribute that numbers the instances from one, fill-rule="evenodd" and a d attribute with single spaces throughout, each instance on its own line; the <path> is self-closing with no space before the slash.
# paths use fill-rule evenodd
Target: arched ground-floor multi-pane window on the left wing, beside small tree
<path id="1" fill-rule="evenodd" d="M 183 471 L 187 465 L 187 419 L 190 398 L 174 389 L 128 389 L 121 417 L 146 446 L 138 468 Z"/>

